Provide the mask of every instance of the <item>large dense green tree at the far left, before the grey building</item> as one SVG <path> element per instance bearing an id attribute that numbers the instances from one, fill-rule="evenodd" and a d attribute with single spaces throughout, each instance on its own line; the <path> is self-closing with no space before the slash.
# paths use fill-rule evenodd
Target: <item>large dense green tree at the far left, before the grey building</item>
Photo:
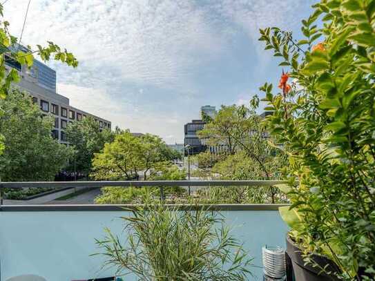
<path id="1" fill-rule="evenodd" d="M 13 90 L 0 99 L 0 130 L 5 149 L 0 175 L 5 181 L 53 180 L 70 157 L 70 149 L 52 138 L 54 119 L 44 116 L 28 95 Z"/>

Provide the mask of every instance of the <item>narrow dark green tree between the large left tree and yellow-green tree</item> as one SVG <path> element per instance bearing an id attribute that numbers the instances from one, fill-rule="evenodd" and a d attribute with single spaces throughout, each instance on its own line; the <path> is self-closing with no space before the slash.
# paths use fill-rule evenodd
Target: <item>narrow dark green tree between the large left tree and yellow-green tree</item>
<path id="1" fill-rule="evenodd" d="M 101 130 L 93 117 L 86 117 L 80 122 L 73 122 L 66 128 L 66 137 L 74 149 L 75 169 L 89 175 L 95 153 L 99 153 L 106 142 L 113 142 L 115 133 L 108 129 Z M 74 163 L 68 169 L 73 171 Z"/>

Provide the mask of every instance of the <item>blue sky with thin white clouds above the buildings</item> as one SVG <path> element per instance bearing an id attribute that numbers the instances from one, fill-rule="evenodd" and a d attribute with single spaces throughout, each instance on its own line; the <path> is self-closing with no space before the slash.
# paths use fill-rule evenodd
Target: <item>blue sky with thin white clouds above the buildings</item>
<path id="1" fill-rule="evenodd" d="M 4 18 L 20 37 L 29 0 L 8 0 Z M 31 0 L 21 43 L 53 41 L 78 68 L 56 62 L 57 93 L 113 128 L 183 143 L 200 106 L 248 104 L 282 68 L 258 41 L 278 26 L 300 37 L 311 0 Z M 260 111 L 262 108 L 260 108 Z"/>

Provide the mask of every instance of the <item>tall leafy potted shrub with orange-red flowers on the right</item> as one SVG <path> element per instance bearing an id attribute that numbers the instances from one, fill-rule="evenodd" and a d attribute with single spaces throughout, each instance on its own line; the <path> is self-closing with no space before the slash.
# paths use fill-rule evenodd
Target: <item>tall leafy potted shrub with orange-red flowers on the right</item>
<path id="1" fill-rule="evenodd" d="M 300 280 L 375 280 L 375 1 L 323 0 L 300 41 L 260 41 L 282 59 L 265 121 L 289 155 L 287 251 Z"/>

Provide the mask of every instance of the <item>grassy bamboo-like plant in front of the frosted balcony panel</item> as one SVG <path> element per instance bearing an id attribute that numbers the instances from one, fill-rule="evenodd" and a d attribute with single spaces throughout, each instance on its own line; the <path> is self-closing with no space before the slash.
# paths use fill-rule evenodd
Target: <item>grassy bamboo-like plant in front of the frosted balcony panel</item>
<path id="1" fill-rule="evenodd" d="M 251 260 L 230 234 L 224 219 L 211 211 L 177 211 L 146 204 L 122 217 L 124 240 L 106 229 L 97 245 L 104 267 L 140 280 L 247 280 Z"/>

